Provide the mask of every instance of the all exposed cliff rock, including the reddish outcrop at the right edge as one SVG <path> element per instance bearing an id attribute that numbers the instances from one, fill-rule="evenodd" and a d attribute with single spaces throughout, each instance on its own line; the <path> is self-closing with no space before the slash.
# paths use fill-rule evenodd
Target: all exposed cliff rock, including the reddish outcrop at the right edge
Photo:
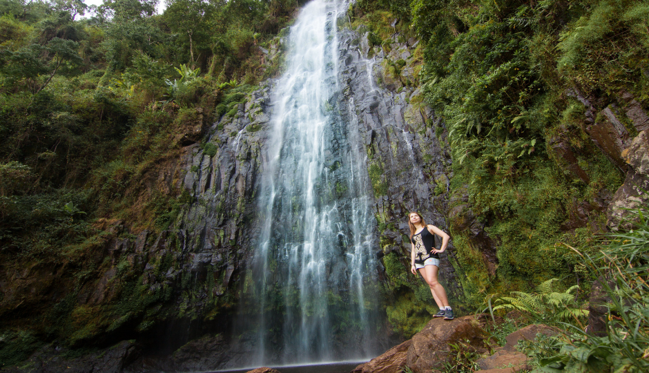
<path id="1" fill-rule="evenodd" d="M 399 325 L 416 319 L 417 312 L 432 310 L 434 303 L 426 298 L 422 281 L 407 277 L 407 213 L 419 211 L 429 224 L 444 230 L 451 222 L 454 229 L 470 232 L 468 243 L 478 249 L 482 257 L 477 260 L 490 276 L 498 266 L 496 242 L 485 232 L 485 222 L 476 220 L 461 188 L 449 196 L 453 175 L 444 124 L 427 108 L 414 83 L 422 63 L 418 42 L 395 34 L 391 43 L 374 46 L 369 32 L 352 31 L 342 24 L 339 35 L 342 90 L 336 99 L 340 115 L 356 126 L 367 154 L 379 242 L 376 252 L 383 265 L 378 271 L 384 294 L 389 294 L 385 327 L 408 333 Z M 278 58 L 276 48 L 268 56 L 269 64 L 273 58 Z M 65 324 L 75 347 L 106 346 L 129 338 L 144 343 L 143 350 L 129 345 L 122 349 L 123 356 L 111 357 L 119 365 L 116 371 L 128 364 L 133 371 L 244 365 L 251 341 L 246 339 L 249 336 L 233 335 L 233 320 L 240 312 L 242 289 L 248 286 L 246 269 L 259 233 L 256 197 L 267 162 L 273 84 L 272 79 L 264 82 L 217 123 L 191 126 L 173 140 L 180 144 L 180 157 L 153 176 L 153 185 L 162 191 L 182 190 L 177 200 L 180 213 L 171 227 L 156 234 L 132 234 L 122 222 L 97 222 L 106 234 L 93 254 L 84 258 L 85 270 L 97 276 L 85 276 L 84 268 L 66 263 L 3 269 L 0 300 L 8 310 L 3 315 L 21 320 L 17 326 L 26 325 L 28 320 L 19 314 L 32 307 L 47 315 L 47 323 Z M 591 211 L 604 210 L 608 224 L 616 229 L 623 224 L 620 207 L 646 203 L 649 119 L 635 99 L 623 93 L 616 103 L 606 105 L 576 91 L 568 94 L 585 106 L 584 122 L 592 144 L 626 172 L 626 181 L 615 193 L 603 193 L 597 204 L 578 204 L 565 229 L 590 224 Z M 574 149 L 560 136 L 548 149 L 568 177 L 588 180 L 575 161 Z M 463 298 L 458 280 L 463 274 L 453 244 L 442 264 L 440 279 L 454 305 Z M 30 294 L 41 294 L 50 302 L 43 304 L 55 306 L 39 306 L 40 298 Z M 416 295 L 415 301 L 411 294 Z M 30 343 L 23 336 L 11 338 Z M 57 356 L 59 350 L 52 347 L 39 354 Z M 140 358 L 131 364 L 138 354 Z"/>

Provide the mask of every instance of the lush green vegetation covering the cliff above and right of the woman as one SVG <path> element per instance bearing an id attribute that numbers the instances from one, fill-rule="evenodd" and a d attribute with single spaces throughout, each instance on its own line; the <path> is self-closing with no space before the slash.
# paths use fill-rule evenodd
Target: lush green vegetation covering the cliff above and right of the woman
<path id="1" fill-rule="evenodd" d="M 586 108 L 571 95 L 590 97 L 601 110 L 623 106 L 621 96 L 630 93 L 649 107 L 646 3 L 381 0 L 357 1 L 350 15 L 361 32 L 421 40 L 418 79 L 425 102 L 446 124 L 449 194 L 462 207 L 449 226 L 466 305 L 489 294 L 530 292 L 548 278 L 588 291 L 592 276 L 566 245 L 592 254 L 593 233 L 606 224 L 599 201 L 623 174 L 592 144 Z M 633 134 L 623 114 L 621 121 Z M 436 128 L 438 138 L 442 131 Z M 552 147 L 557 141 L 588 178 L 569 171 Z M 588 216 L 576 218 L 583 207 Z M 468 216 L 485 223 L 497 247 L 495 274 L 464 229 Z"/>

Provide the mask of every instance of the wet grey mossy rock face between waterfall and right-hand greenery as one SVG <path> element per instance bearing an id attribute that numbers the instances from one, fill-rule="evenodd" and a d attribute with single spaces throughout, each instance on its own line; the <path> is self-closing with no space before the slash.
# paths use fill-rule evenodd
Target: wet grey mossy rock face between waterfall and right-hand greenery
<path id="1" fill-rule="evenodd" d="M 342 30 L 340 36 L 341 100 L 365 145 L 367 170 L 374 189 L 381 256 L 394 252 L 409 268 L 411 244 L 407 215 L 418 211 L 427 224 L 448 231 L 450 155 L 436 131 L 440 119 L 423 102 L 412 82 L 418 45 L 395 34 L 389 47 L 369 47 L 367 35 Z M 360 40 L 360 46 L 356 41 Z M 342 106 L 345 108 L 345 106 Z M 444 136 L 444 135 L 443 135 Z M 440 240 L 436 243 L 441 245 Z M 462 296 L 452 242 L 440 254 L 440 283 L 457 300 Z M 494 257 L 495 258 L 495 257 Z"/>

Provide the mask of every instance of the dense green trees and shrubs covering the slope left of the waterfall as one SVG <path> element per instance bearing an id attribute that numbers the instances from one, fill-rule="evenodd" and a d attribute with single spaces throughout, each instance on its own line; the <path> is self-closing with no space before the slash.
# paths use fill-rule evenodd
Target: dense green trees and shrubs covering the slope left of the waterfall
<path id="1" fill-rule="evenodd" d="M 300 1 L 172 0 L 162 15 L 155 3 L 0 1 L 0 262 L 3 276 L 20 273 L 34 287 L 0 298 L 2 363 L 48 341 L 76 348 L 195 318 L 188 305 L 205 286 L 204 304 L 233 304 L 231 294 L 214 295 L 223 293 L 210 288 L 217 281 L 188 274 L 151 287 L 133 258 L 104 250 L 168 229 L 192 202 L 176 189 L 182 172 L 164 185 L 158 175 L 279 70 L 258 46 L 282 50 L 277 35 Z M 173 234 L 167 245 L 148 258 L 153 276 L 180 266 Z M 106 300 L 79 302 L 104 274 Z M 37 298 L 49 289 L 48 300 Z"/>

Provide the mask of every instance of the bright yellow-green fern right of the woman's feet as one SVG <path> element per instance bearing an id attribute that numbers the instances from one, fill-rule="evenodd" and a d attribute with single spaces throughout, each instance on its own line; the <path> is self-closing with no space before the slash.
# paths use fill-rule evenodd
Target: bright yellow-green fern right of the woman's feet
<path id="1" fill-rule="evenodd" d="M 577 298 L 572 294 L 579 289 L 578 285 L 570 287 L 564 292 L 556 291 L 555 283 L 558 278 L 550 278 L 536 287 L 537 293 L 512 291 L 512 296 L 503 296 L 496 300 L 494 311 L 521 311 L 530 314 L 539 321 L 566 321 L 574 320 L 581 325 L 581 320 L 588 316 L 587 309 L 581 309 Z"/>

